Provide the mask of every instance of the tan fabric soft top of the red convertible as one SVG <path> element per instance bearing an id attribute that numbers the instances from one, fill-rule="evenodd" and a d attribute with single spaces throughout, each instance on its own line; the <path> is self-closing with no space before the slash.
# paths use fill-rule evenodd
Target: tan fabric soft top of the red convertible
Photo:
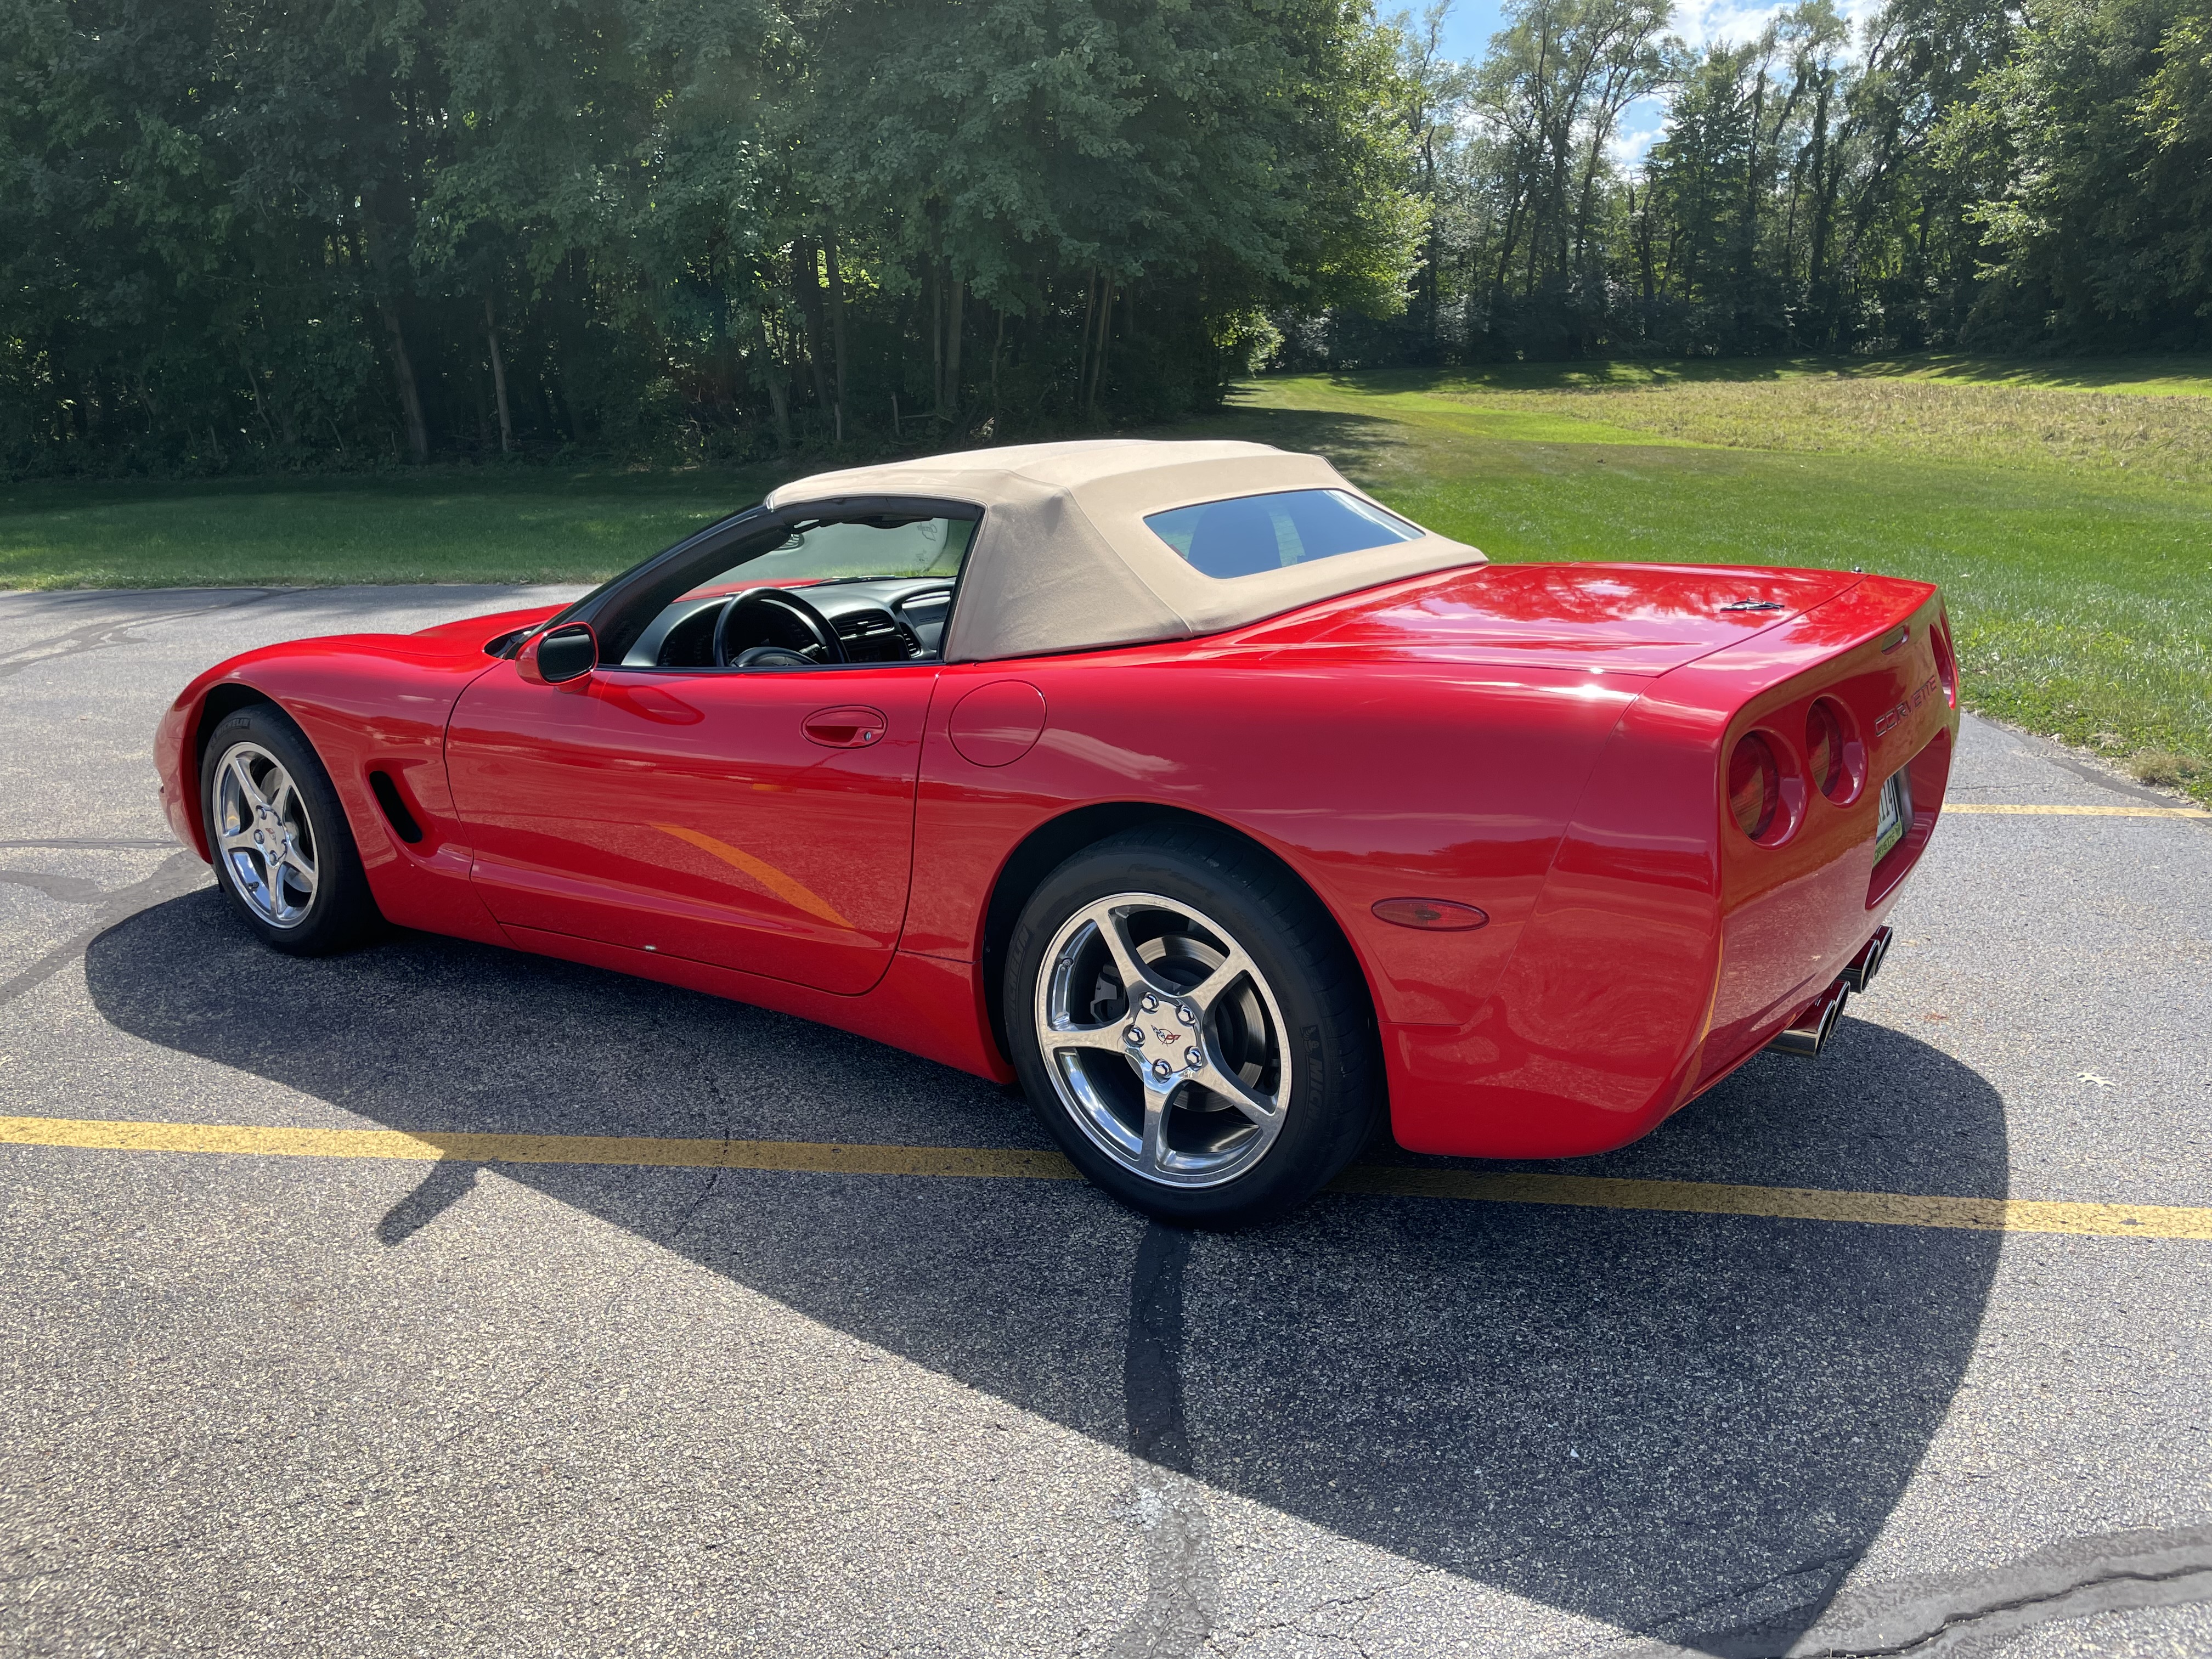
<path id="1" fill-rule="evenodd" d="M 1462 542 L 1422 535 L 1221 580 L 1186 564 L 1144 524 L 1148 513 L 1172 507 L 1285 489 L 1340 489 L 1374 502 L 1321 456 L 1248 442 L 1099 438 L 816 473 L 783 484 L 768 504 L 830 509 L 849 495 L 927 495 L 984 509 L 945 661 L 1190 639 L 1380 582 L 1484 562 Z"/>

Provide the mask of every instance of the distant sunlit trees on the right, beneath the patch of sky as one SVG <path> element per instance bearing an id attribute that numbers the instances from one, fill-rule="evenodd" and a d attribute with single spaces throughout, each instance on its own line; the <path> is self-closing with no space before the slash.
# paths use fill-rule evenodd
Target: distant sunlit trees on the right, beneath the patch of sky
<path id="1" fill-rule="evenodd" d="M 1396 20 L 1409 314 L 1281 312 L 1283 367 L 2212 341 L 2205 0 L 1796 0 L 1701 49 L 1663 0 L 1509 0 L 1478 66 L 1440 15 Z"/>

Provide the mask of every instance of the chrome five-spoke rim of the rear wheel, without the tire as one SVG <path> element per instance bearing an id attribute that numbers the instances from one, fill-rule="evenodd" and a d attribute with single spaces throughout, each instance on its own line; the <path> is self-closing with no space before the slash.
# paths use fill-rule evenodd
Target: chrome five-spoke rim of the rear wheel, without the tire
<path id="1" fill-rule="evenodd" d="M 1283 1009 L 1234 936 L 1186 902 L 1110 894 L 1068 916 L 1035 1022 L 1060 1104 L 1146 1181 L 1234 1181 L 1283 1133 Z"/>

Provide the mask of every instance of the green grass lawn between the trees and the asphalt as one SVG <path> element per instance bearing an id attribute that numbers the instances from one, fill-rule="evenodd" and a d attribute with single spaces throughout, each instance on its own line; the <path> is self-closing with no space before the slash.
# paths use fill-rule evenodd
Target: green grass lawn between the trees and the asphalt
<path id="1" fill-rule="evenodd" d="M 1973 708 L 2212 799 L 2212 358 L 1285 376 L 1161 436 L 1327 453 L 1498 560 L 1942 582 Z M 0 586 L 597 580 L 807 469 L 0 487 Z"/>

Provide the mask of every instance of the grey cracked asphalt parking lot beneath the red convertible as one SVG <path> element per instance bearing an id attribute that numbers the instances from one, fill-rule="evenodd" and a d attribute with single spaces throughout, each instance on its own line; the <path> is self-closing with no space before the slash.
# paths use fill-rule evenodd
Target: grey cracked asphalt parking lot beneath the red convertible
<path id="1" fill-rule="evenodd" d="M 0 1115 L 1042 1148 L 781 1015 L 248 940 L 159 710 L 513 602 L 0 595 Z M 1951 799 L 2174 805 L 1980 721 Z M 1953 814 L 1893 920 L 1820 1062 L 1573 1172 L 2212 1206 L 2212 821 Z M 20 1141 L 7 1655 L 2212 1655 L 2203 1239 Z"/>

